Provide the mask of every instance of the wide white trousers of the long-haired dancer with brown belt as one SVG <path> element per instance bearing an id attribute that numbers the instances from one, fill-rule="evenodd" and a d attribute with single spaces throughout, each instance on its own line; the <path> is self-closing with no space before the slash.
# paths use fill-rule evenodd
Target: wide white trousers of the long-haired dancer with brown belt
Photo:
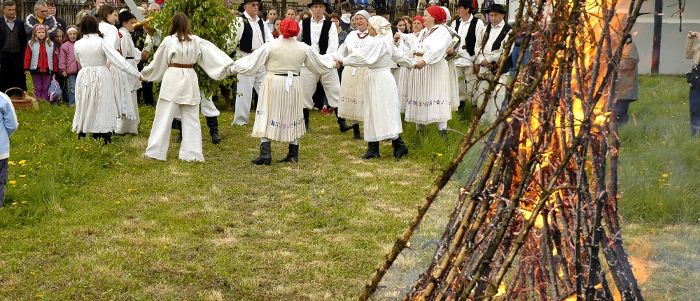
<path id="1" fill-rule="evenodd" d="M 170 145 L 170 131 L 176 111 L 182 112 L 182 143 L 179 158 L 183 161 L 204 161 L 202 155 L 202 128 L 197 105 L 176 104 L 158 99 L 146 155 L 165 161 Z"/>

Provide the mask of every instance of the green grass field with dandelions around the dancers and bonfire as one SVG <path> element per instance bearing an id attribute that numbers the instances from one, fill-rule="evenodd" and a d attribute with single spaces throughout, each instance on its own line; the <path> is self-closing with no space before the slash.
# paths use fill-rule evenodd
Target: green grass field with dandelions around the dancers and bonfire
<path id="1" fill-rule="evenodd" d="M 689 137 L 688 88 L 680 77 L 640 85 L 619 131 L 623 236 L 647 300 L 696 300 L 700 140 Z M 382 142 L 379 160 L 360 160 L 366 144 L 315 112 L 299 164 L 258 167 L 259 141 L 223 111 L 224 141 L 204 141 L 207 162 L 179 162 L 177 144 L 154 162 L 140 158 L 154 113 L 142 106 L 141 134 L 108 146 L 76 139 L 70 107 L 18 113 L 0 299 L 352 300 L 454 153 L 435 127 L 419 141 L 405 124 L 407 157 Z M 286 145 L 272 152 L 281 159 Z M 458 185 L 423 231 L 440 230 Z"/>

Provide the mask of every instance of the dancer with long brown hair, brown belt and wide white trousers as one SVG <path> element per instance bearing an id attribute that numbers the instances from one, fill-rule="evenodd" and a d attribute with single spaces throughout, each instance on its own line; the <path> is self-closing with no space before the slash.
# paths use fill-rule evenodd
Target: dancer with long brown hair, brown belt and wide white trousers
<path id="1" fill-rule="evenodd" d="M 180 109 L 183 140 L 179 159 L 204 161 L 199 112 L 202 97 L 194 64 L 198 64 L 211 78 L 222 80 L 230 75 L 233 59 L 216 45 L 195 36 L 187 16 L 176 13 L 168 36 L 163 38 L 153 61 L 141 71 L 144 80 L 163 82 L 144 158 L 166 160 L 172 120 Z"/>

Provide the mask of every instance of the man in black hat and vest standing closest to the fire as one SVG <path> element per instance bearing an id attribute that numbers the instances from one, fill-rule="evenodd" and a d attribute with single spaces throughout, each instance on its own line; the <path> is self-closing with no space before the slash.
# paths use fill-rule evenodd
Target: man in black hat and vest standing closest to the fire
<path id="1" fill-rule="evenodd" d="M 498 71 L 500 67 L 498 64 L 503 55 L 510 57 L 510 52 L 505 53 L 503 50 L 505 50 L 508 34 L 512 27 L 504 20 L 507 10 L 505 10 L 502 5 L 493 4 L 487 12 L 489 13 L 489 20 L 491 20 L 491 23 L 486 25 L 486 27 L 477 34 L 477 55 L 475 59 L 477 64 L 475 64 L 475 69 L 478 73 L 484 75 L 484 77 L 489 78 L 479 83 L 479 99 L 484 99 L 484 101 L 488 102 L 486 104 L 486 111 L 484 112 L 486 120 L 494 121 L 505 99 L 505 89 L 503 89 L 503 85 L 507 83 L 508 71 L 510 71 L 510 67 L 512 66 L 512 60 L 506 59 L 505 66 L 501 68 L 500 73 L 496 74 L 496 71 Z M 485 99 L 484 93 L 489 87 L 490 80 L 496 80 L 498 83 L 496 84 L 496 90 L 493 90 L 491 93 L 491 97 Z M 480 104 L 479 102 L 479 105 Z"/>

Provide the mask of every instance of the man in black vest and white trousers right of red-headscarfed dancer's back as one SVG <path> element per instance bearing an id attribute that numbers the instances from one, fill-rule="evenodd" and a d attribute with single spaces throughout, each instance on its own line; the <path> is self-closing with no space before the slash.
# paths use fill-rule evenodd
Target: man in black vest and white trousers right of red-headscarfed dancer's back
<path id="1" fill-rule="evenodd" d="M 307 5 L 311 10 L 311 18 L 301 20 L 299 27 L 301 28 L 297 40 L 310 45 L 316 51 L 325 55 L 326 53 L 336 52 L 338 50 L 338 30 L 333 22 L 325 20 L 323 12 L 330 6 L 323 0 L 311 0 Z M 338 73 L 333 70 L 325 73 L 323 76 L 316 76 L 305 67 L 302 67 L 300 72 L 302 83 L 304 84 L 304 123 L 306 123 L 307 131 L 309 128 L 309 109 L 314 106 L 313 95 L 316 92 L 316 83 L 321 81 L 325 90 L 325 97 L 328 98 L 328 104 L 333 107 L 338 107 L 338 99 L 340 97 L 340 78 Z M 337 115 L 337 110 L 336 115 Z M 338 118 L 338 125 L 341 132 L 351 130 L 352 127 L 345 123 L 345 120 Z"/>

